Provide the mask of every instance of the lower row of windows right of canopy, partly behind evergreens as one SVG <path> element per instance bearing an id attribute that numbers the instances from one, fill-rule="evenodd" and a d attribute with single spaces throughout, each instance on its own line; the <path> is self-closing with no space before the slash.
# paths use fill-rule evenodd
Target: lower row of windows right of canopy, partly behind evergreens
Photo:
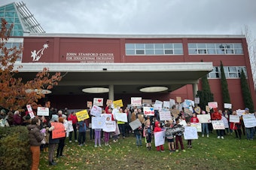
<path id="1" fill-rule="evenodd" d="M 238 78 L 241 77 L 242 70 L 247 77 L 247 71 L 244 66 L 224 66 L 224 72 L 226 78 Z M 214 67 L 213 70 L 208 74 L 208 78 L 221 78 L 221 67 Z"/>

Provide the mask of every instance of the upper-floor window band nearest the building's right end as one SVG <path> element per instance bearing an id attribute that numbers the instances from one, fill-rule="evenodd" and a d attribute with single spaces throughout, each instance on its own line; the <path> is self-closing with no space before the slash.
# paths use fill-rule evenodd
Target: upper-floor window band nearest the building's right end
<path id="1" fill-rule="evenodd" d="M 189 54 L 243 54 L 241 43 L 188 43 Z"/>

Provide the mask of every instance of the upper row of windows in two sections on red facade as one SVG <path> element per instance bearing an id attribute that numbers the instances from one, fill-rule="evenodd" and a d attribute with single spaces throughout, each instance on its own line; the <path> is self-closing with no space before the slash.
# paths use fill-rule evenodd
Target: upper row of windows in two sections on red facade
<path id="1" fill-rule="evenodd" d="M 241 43 L 188 43 L 189 54 L 243 54 Z M 181 43 L 125 44 L 126 56 L 182 55 Z"/>

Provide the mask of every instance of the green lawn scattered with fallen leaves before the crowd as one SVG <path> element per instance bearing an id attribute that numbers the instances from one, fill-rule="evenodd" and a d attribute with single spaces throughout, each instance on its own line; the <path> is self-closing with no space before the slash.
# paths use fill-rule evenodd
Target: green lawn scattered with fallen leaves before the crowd
<path id="1" fill-rule="evenodd" d="M 199 133 L 200 135 L 200 133 Z M 192 141 L 193 148 L 186 152 L 169 153 L 167 142 L 165 152 L 158 153 L 156 148 L 148 151 L 143 143 L 136 147 L 136 138 L 132 135 L 121 138 L 109 146 L 94 147 L 94 141 L 88 140 L 85 146 L 66 140 L 64 157 L 56 158 L 57 165 L 49 166 L 47 153 L 41 153 L 40 170 L 43 169 L 256 169 L 256 140 L 242 140 L 235 135 L 225 135 L 224 139 L 216 138 L 211 133 L 209 138 L 200 137 Z M 144 141 L 145 138 L 142 138 Z M 111 140 L 112 141 L 112 140 Z M 153 138 L 154 141 L 154 138 Z M 152 146 L 154 142 L 152 143 Z"/>

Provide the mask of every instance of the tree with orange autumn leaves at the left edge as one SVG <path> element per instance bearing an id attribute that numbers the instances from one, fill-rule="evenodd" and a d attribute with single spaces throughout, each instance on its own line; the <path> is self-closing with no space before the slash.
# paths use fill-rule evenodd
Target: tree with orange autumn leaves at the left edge
<path id="1" fill-rule="evenodd" d="M 0 32 L 0 108 L 6 108 L 12 111 L 23 108 L 25 105 L 38 102 L 38 99 L 44 98 L 43 90 L 50 90 L 61 80 L 60 72 L 50 74 L 48 68 L 44 68 L 35 75 L 33 80 L 23 82 L 19 77 L 19 69 L 15 67 L 15 62 L 21 56 L 23 47 L 7 48 L 7 43 L 11 29 L 7 28 L 7 22 L 2 19 Z"/>

